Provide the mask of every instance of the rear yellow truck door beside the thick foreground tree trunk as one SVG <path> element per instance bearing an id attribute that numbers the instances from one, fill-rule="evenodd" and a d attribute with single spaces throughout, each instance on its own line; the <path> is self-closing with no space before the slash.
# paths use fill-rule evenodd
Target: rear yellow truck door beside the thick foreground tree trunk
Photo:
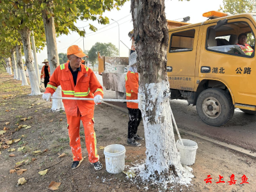
<path id="1" fill-rule="evenodd" d="M 194 90 L 198 31 L 199 26 L 195 26 L 169 33 L 167 74 L 172 89 Z"/>

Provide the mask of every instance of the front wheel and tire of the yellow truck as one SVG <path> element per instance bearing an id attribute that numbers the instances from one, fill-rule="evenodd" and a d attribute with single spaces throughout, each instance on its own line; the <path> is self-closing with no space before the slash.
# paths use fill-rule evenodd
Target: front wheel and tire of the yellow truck
<path id="1" fill-rule="evenodd" d="M 196 111 L 205 124 L 220 127 L 234 115 L 234 105 L 227 92 L 218 88 L 209 88 L 198 96 Z"/>

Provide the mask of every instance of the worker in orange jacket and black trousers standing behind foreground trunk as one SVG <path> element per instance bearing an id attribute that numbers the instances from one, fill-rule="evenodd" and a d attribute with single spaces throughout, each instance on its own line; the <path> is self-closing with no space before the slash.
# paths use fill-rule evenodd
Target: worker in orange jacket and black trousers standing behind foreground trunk
<path id="1" fill-rule="evenodd" d="M 125 76 L 125 90 L 127 100 L 138 99 L 139 75 L 137 72 L 136 58 L 136 52 L 132 52 L 132 54 L 129 56 L 130 68 L 127 72 L 127 75 Z M 127 102 L 127 108 L 129 111 L 127 143 L 134 147 L 140 147 L 141 143 L 138 143 L 136 140 L 144 140 L 137 134 L 138 127 L 141 122 L 141 111 L 138 108 L 138 103 L 135 102 Z"/>

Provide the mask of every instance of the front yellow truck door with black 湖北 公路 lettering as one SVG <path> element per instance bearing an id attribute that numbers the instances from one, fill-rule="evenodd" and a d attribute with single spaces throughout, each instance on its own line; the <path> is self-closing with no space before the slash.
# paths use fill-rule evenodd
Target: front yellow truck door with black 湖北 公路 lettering
<path id="1" fill-rule="evenodd" d="M 235 106 L 237 104 L 255 106 L 256 60 L 253 51 L 255 26 L 245 17 L 230 19 L 218 29 L 214 29 L 215 25 L 216 23 L 211 23 L 204 26 L 198 68 L 200 81 L 209 79 L 214 88 L 219 86 L 221 88 L 221 84 L 225 84 Z M 246 34 L 247 44 L 253 48 L 251 52 L 246 53 L 240 45 L 236 45 L 241 33 Z"/>

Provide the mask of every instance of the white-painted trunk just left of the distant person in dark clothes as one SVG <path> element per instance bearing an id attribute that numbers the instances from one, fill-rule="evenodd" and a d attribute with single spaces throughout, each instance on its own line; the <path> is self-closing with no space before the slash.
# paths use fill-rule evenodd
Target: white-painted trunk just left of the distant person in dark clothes
<path id="1" fill-rule="evenodd" d="M 36 78 L 35 67 L 33 66 L 33 58 L 31 52 L 31 45 L 30 45 L 30 34 L 31 31 L 25 27 L 19 30 L 20 36 L 22 38 L 23 50 L 26 59 L 26 66 L 28 70 L 29 81 L 31 85 L 31 93 L 30 95 L 41 95 L 38 81 Z"/>

